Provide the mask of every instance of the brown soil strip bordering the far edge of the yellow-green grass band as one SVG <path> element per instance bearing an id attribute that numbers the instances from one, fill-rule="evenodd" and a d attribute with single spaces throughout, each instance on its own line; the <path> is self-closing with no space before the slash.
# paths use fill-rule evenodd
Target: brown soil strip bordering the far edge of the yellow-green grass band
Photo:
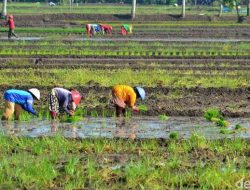
<path id="1" fill-rule="evenodd" d="M 14 65 L 12 63 L 15 63 Z M 250 70 L 249 59 L 231 58 L 43 58 L 43 57 L 2 57 L 0 58 L 1 69 L 25 69 L 25 68 L 42 68 L 42 69 L 107 69 L 117 70 L 131 68 L 134 70 L 145 69 L 164 69 L 164 70 L 193 70 L 193 71 L 245 71 Z M 46 73 L 46 71 L 44 71 Z"/>

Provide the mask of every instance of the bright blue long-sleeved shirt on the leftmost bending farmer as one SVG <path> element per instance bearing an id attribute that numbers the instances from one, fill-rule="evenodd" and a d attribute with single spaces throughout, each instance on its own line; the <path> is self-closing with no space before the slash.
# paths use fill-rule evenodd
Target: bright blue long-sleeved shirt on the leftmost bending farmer
<path id="1" fill-rule="evenodd" d="M 33 96 L 27 91 L 16 89 L 7 90 L 4 93 L 4 99 L 15 104 L 19 104 L 27 112 L 37 115 L 36 111 L 32 107 L 34 102 Z"/>

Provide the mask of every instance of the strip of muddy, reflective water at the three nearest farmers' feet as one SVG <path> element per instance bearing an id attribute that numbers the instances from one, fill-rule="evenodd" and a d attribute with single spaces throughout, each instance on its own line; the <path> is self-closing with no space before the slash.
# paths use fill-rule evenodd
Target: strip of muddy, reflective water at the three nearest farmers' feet
<path id="1" fill-rule="evenodd" d="M 199 117 L 171 117 L 161 121 L 158 117 L 132 119 L 85 118 L 76 123 L 59 123 L 47 120 L 30 122 L 4 122 L 0 132 L 8 135 L 41 137 L 62 134 L 68 138 L 169 138 L 171 132 L 178 132 L 180 138 L 198 133 L 209 139 L 241 137 L 250 139 L 250 118 L 227 119 L 232 134 L 221 134 L 220 128 Z M 236 124 L 244 130 L 236 131 Z"/>

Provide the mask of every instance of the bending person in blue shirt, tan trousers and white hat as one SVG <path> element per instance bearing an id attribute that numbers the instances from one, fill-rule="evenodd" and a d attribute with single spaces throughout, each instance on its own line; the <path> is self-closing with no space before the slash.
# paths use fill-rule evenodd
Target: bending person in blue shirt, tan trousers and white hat
<path id="1" fill-rule="evenodd" d="M 40 100 L 40 91 L 31 88 L 28 91 L 11 89 L 4 92 L 4 112 L 2 120 L 9 120 L 14 113 L 15 119 L 19 120 L 22 109 L 38 116 L 37 112 L 32 108 L 34 99 Z"/>

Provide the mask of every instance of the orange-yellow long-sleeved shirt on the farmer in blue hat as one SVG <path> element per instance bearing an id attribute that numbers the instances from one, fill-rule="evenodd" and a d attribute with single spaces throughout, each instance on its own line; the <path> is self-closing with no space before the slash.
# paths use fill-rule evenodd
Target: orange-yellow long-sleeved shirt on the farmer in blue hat
<path id="1" fill-rule="evenodd" d="M 123 100 L 129 107 L 133 107 L 136 101 L 134 89 L 127 85 L 116 85 L 113 87 L 113 94 L 120 100 Z"/>

